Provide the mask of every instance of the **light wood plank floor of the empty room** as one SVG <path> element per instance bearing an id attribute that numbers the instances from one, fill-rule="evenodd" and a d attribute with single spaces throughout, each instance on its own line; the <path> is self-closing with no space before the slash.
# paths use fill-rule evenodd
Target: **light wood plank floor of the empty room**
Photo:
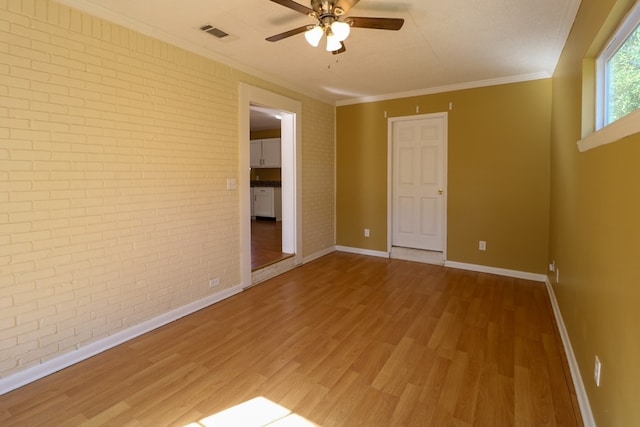
<path id="1" fill-rule="evenodd" d="M 0 425 L 244 426 L 265 402 L 277 425 L 582 425 L 543 284 L 337 252 L 0 396 Z"/>

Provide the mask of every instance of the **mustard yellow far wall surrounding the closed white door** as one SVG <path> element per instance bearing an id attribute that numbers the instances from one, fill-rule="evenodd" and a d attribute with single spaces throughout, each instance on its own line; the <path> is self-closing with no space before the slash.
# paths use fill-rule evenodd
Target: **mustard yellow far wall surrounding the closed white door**
<path id="1" fill-rule="evenodd" d="M 384 112 L 443 112 L 450 102 L 447 259 L 544 273 L 550 79 L 338 107 L 337 244 L 387 250 Z"/>

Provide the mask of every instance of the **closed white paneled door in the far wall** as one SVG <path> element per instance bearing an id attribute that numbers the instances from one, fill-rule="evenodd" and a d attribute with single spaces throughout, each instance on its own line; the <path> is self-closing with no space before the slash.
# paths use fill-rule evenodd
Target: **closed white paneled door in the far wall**
<path id="1" fill-rule="evenodd" d="M 444 251 L 446 114 L 391 120 L 392 246 Z"/>

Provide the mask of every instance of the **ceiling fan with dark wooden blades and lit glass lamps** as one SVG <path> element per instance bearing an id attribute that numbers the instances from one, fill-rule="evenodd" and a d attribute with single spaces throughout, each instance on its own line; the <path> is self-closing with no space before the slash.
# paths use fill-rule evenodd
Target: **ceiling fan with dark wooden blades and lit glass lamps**
<path id="1" fill-rule="evenodd" d="M 360 0 L 311 0 L 311 8 L 293 0 L 271 0 L 281 6 L 308 15 L 318 20 L 317 24 L 303 25 L 275 36 L 267 37 L 267 41 L 277 42 L 296 34 L 305 33 L 307 42 L 313 47 L 320 44 L 323 36 L 327 36 L 327 51 L 337 55 L 346 51 L 344 41 L 349 36 L 351 27 L 372 28 L 377 30 L 399 30 L 404 24 L 400 18 L 366 18 L 349 16 L 340 18 Z"/>

